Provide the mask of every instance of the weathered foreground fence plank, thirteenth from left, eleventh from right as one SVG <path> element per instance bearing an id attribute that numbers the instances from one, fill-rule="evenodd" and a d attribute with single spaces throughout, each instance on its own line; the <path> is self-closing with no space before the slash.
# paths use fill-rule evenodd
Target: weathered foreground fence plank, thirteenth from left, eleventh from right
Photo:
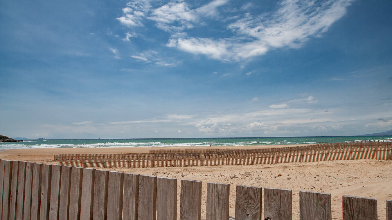
<path id="1" fill-rule="evenodd" d="M 108 198 L 107 198 L 107 218 L 113 220 L 122 219 L 123 208 L 123 172 L 109 172 Z"/>

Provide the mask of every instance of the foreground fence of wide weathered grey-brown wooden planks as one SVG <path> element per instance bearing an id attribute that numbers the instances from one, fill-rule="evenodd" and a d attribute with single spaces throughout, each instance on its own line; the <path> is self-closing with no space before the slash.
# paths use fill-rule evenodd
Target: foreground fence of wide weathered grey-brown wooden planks
<path id="1" fill-rule="evenodd" d="M 229 184 L 207 183 L 206 220 L 229 219 Z M 176 220 L 177 179 L 0 161 L 1 220 Z M 264 210 L 261 208 L 264 191 Z M 201 220 L 201 181 L 181 180 L 180 220 Z M 343 195 L 343 220 L 377 219 L 377 200 Z M 292 220 L 292 191 L 236 186 L 235 219 Z M 331 220 L 331 195 L 299 192 L 300 220 Z M 392 220 L 392 200 L 386 201 Z"/>

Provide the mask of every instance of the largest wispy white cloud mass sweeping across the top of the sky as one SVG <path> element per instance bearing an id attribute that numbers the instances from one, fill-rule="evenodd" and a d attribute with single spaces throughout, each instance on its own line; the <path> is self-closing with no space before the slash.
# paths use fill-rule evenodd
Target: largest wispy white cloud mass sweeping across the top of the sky
<path id="1" fill-rule="evenodd" d="M 123 16 L 117 19 L 128 27 L 154 21 L 156 27 L 171 33 L 167 47 L 222 61 L 240 61 L 275 48 L 302 47 L 344 16 L 352 1 L 283 0 L 276 11 L 263 14 L 247 12 L 252 4 L 244 3 L 240 7 L 242 11 L 237 10 L 238 14 L 230 19 L 220 17 L 220 7 L 228 5 L 227 0 L 214 0 L 194 9 L 187 2 L 172 1 L 155 8 L 138 2 L 129 3 L 123 9 Z M 243 13 L 244 10 L 247 13 Z M 205 38 L 187 32 L 211 20 L 230 22 L 221 23 L 221 28 L 226 29 L 224 37 Z"/>

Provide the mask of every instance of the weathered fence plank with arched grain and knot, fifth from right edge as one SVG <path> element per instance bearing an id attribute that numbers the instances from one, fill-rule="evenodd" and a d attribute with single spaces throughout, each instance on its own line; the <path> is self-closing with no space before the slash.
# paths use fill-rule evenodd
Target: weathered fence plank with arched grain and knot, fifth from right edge
<path id="1" fill-rule="evenodd" d="M 237 185 L 235 218 L 238 220 L 260 220 L 261 195 L 261 187 Z"/>

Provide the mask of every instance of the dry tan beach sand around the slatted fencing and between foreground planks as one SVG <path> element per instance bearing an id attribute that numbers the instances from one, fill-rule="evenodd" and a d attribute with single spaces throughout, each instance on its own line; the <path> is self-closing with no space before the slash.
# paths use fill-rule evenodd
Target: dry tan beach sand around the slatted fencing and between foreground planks
<path id="1" fill-rule="evenodd" d="M 288 146 L 289 145 L 267 145 L 252 146 L 252 148 Z M 175 149 L 176 147 L 170 148 Z M 54 154 L 143 153 L 148 152 L 149 149 L 151 148 L 50 148 L 2 150 L 0 151 L 0 158 L 56 164 L 57 162 L 53 161 Z M 378 219 L 381 220 L 386 219 L 385 200 L 392 199 L 392 161 L 363 159 L 353 161 L 319 161 L 310 163 L 282 163 L 250 166 L 100 169 L 177 178 L 178 216 L 180 206 L 180 180 L 192 179 L 202 181 L 202 219 L 205 219 L 207 182 L 230 184 L 230 216 L 235 216 L 236 185 L 292 190 L 293 219 L 295 220 L 299 219 L 299 190 L 331 193 L 332 219 L 342 219 L 342 195 L 372 197 L 377 199 Z M 250 172 L 250 174 L 245 174 L 245 172 Z M 281 176 L 278 177 L 278 174 L 281 174 Z M 274 178 L 275 176 L 276 178 Z"/>

